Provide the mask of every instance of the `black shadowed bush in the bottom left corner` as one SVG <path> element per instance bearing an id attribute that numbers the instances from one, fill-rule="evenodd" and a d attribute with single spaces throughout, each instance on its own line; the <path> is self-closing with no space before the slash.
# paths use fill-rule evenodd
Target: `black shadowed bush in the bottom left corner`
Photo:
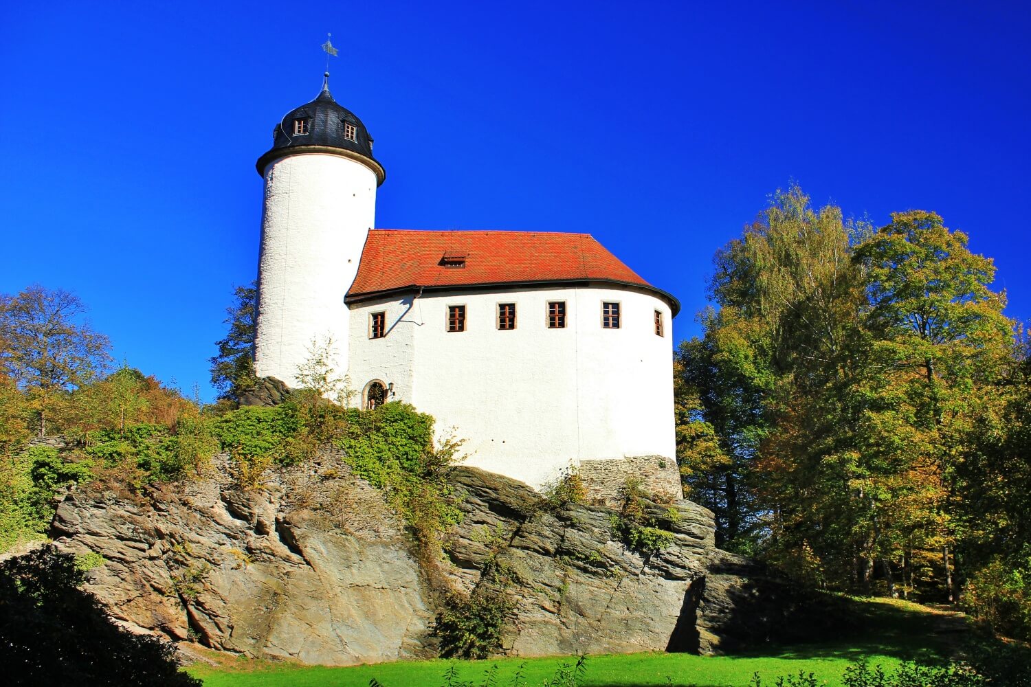
<path id="1" fill-rule="evenodd" d="M 200 685 L 174 647 L 132 634 L 78 589 L 75 557 L 46 545 L 0 562 L 0 663 L 8 684 Z"/>

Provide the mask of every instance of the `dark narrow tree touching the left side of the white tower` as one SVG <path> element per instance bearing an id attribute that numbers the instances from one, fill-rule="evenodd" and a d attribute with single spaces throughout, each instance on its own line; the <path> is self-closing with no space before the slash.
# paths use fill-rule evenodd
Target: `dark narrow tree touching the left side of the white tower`
<path id="1" fill-rule="evenodd" d="M 215 342 L 219 354 L 210 358 L 211 384 L 219 389 L 219 398 L 237 401 L 240 394 L 255 383 L 255 331 L 257 322 L 258 287 L 237 286 L 233 291 L 235 302 L 226 308 L 225 323 L 229 332 Z"/>

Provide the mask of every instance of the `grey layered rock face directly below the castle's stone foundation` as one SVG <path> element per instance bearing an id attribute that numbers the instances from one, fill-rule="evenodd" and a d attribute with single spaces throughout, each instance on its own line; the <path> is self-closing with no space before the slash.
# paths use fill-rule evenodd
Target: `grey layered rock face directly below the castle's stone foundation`
<path id="1" fill-rule="evenodd" d="M 685 596 L 705 575 L 711 513 L 690 502 L 675 505 L 673 546 L 645 559 L 613 541 L 613 512 L 607 508 L 571 505 L 535 512 L 539 497 L 511 480 L 474 469 L 456 471 L 454 480 L 466 491 L 465 519 L 450 549 L 461 579 L 469 586 L 479 582 L 479 571 L 493 556 L 513 583 L 509 593 L 518 604 L 506 628 L 507 653 L 669 647 Z M 668 515 L 667 508 L 654 508 L 654 515 Z"/>

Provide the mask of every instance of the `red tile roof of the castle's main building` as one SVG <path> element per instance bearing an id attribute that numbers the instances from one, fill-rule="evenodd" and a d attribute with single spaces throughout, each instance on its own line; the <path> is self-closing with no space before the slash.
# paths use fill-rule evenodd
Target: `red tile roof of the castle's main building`
<path id="1" fill-rule="evenodd" d="M 465 261 L 445 267 L 442 261 Z M 348 298 L 406 287 L 600 280 L 659 291 L 590 234 L 374 229 Z M 676 300 L 659 291 L 678 309 Z"/>

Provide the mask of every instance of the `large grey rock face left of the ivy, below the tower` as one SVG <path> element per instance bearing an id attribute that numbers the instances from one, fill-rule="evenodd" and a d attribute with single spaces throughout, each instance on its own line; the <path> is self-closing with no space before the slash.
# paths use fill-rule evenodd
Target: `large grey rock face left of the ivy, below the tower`
<path id="1" fill-rule="evenodd" d="M 329 461 L 248 491 L 212 479 L 147 505 L 80 490 L 52 535 L 104 556 L 87 589 L 137 631 L 329 665 L 426 655 L 433 614 L 399 523 L 338 474 Z"/>

